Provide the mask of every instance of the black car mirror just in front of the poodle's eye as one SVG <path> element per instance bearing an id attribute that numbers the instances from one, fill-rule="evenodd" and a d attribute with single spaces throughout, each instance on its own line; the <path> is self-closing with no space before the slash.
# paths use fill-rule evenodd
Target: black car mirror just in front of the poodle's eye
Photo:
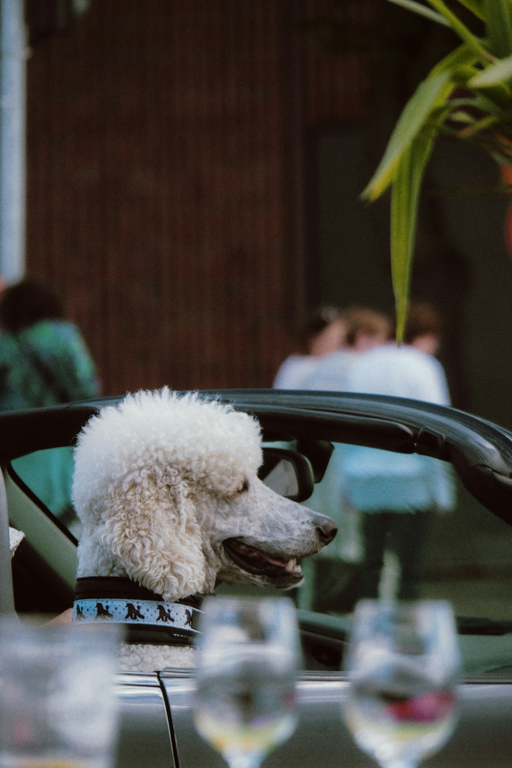
<path id="1" fill-rule="evenodd" d="M 265 485 L 293 502 L 305 502 L 315 487 L 311 462 L 291 449 L 264 447 L 258 475 Z"/>

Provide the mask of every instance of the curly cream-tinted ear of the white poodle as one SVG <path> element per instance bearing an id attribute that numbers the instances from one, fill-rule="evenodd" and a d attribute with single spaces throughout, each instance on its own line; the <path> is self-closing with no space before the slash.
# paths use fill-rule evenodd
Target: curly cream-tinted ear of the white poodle
<path id="1" fill-rule="evenodd" d="M 114 489 L 102 514 L 101 540 L 130 578 L 164 600 L 200 593 L 206 577 L 187 491 L 180 477 L 164 482 L 161 472 L 150 470 Z"/>

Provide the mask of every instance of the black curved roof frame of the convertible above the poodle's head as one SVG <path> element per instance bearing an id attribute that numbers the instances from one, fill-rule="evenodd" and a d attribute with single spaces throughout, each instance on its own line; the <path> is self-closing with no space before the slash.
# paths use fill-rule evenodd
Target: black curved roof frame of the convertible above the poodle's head
<path id="1" fill-rule="evenodd" d="M 512 438 L 485 419 L 447 406 L 380 395 L 275 389 L 202 390 L 199 394 L 256 415 L 266 439 L 286 438 L 286 432 L 293 439 L 306 439 L 314 428 L 316 438 L 448 460 L 469 492 L 512 524 Z M 121 399 L 0 414 L 0 462 L 39 449 L 73 445 L 91 415 Z"/>

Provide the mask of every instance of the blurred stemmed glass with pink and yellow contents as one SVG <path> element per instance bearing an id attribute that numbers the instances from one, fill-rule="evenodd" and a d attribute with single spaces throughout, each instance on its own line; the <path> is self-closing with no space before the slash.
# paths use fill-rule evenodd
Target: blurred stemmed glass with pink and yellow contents
<path id="1" fill-rule="evenodd" d="M 359 601 L 343 712 L 381 768 L 416 768 L 454 731 L 460 656 L 445 601 Z"/>

